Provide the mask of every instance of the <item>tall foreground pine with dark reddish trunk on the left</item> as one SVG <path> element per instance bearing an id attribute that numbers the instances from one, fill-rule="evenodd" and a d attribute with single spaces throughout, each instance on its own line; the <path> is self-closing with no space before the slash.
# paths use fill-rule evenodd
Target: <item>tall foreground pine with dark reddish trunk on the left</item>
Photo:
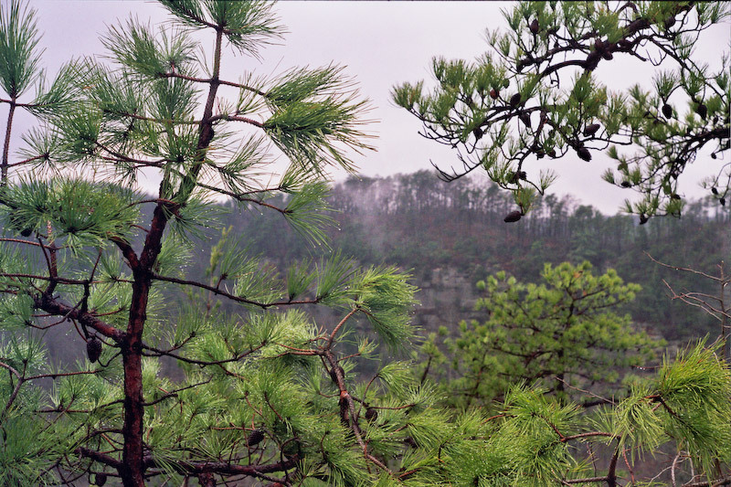
<path id="1" fill-rule="evenodd" d="M 404 448 L 409 433 L 398 425 L 419 418 L 429 395 L 405 386 L 397 363 L 368 386 L 354 367 L 379 344 L 408 344 L 407 274 L 358 269 L 336 252 L 280 271 L 227 236 L 207 281 L 185 272 L 211 245 L 203 230 L 216 225 L 213 196 L 279 212 L 322 245 L 327 170 L 354 170 L 347 151 L 369 148 L 367 102 L 335 65 L 220 77 L 225 47 L 257 56 L 281 38 L 270 3 L 163 5 L 172 26 L 111 26 L 109 63 L 70 63 L 29 102 L 19 98 L 42 79 L 34 12 L 16 1 L 3 10 L 2 483 L 396 475 L 382 459 Z M 25 136 L 27 156 L 10 163 L 16 108 L 39 125 Z M 291 161 L 279 179 L 272 143 Z M 154 196 L 135 190 L 143 171 L 160 176 Z M 270 204 L 278 194 L 281 207 Z M 185 303 L 185 290 L 238 309 Z M 342 320 L 313 323 L 308 305 Z M 373 333 L 356 336 L 359 319 Z M 48 364 L 41 336 L 52 327 L 78 333 L 87 360 Z M 163 374 L 163 358 L 180 379 Z M 382 407 L 387 427 L 370 426 Z"/>

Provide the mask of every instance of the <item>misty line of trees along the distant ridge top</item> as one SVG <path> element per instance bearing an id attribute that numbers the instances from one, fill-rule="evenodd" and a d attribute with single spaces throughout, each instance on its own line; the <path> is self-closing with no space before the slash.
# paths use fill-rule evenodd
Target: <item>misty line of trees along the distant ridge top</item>
<path id="1" fill-rule="evenodd" d="M 624 281 L 641 284 L 629 308 L 635 322 L 647 323 L 669 339 L 715 333 L 712 319 L 673 302 L 663 281 L 675 290 L 718 290 L 699 276 L 663 268 L 648 257 L 709 272 L 727 261 L 731 212 L 713 200 L 689 202 L 679 219 L 655 217 L 639 225 L 637 217 L 606 216 L 571 197 L 547 195 L 519 222 L 506 224 L 503 217 L 515 206 L 496 185 L 467 178 L 447 184 L 420 171 L 347 179 L 334 185 L 329 204 L 334 210 L 331 249 L 304 245 L 302 236 L 276 223 L 281 215 L 262 217 L 259 207 L 234 211 L 224 219 L 252 242 L 251 251 L 279 264 L 340 251 L 361 264 L 411 270 L 420 287 L 436 269 L 457 270 L 472 282 L 499 270 L 536 281 L 545 262 L 588 260 L 597 270 L 613 268 Z M 202 272 L 206 262 L 196 259 L 198 269 L 192 273 Z"/>

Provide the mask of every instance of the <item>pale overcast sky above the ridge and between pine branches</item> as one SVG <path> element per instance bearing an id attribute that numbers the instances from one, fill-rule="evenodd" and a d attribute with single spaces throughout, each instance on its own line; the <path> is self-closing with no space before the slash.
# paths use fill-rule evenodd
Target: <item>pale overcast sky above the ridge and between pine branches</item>
<path id="1" fill-rule="evenodd" d="M 9 0 L 0 0 L 7 5 Z M 116 19 L 130 14 L 150 19 L 153 24 L 166 18 L 164 8 L 143 0 L 31 0 L 37 9 L 41 46 L 46 49 L 43 65 L 50 73 L 69 58 L 103 53 L 99 37 Z M 368 115 L 377 123 L 369 127 L 378 135 L 377 152 L 355 159 L 363 175 L 391 175 L 429 169 L 429 160 L 442 168 L 459 166 L 456 154 L 448 148 L 418 135 L 420 124 L 407 111 L 390 101 L 392 87 L 404 81 L 431 79 L 431 58 L 477 58 L 486 49 L 486 27 L 504 26 L 500 9 L 508 2 L 281 2 L 275 11 L 288 33 L 281 45 L 261 51 L 261 60 L 238 56 L 228 65 L 231 77 L 238 70 L 277 74 L 296 66 L 320 67 L 334 61 L 347 67 L 360 91 L 375 107 Z M 728 51 L 729 24 L 705 34 L 697 53 L 712 64 L 719 64 L 722 49 Z M 619 61 L 619 62 L 618 62 Z M 597 74 L 610 89 L 621 89 L 634 82 L 646 82 L 652 69 L 620 57 L 599 65 Z M 0 120 L 5 125 L 6 108 Z M 19 120 L 17 134 L 29 126 Z M 4 127 L 0 127 L 4 128 Z M 5 131 L 3 131 L 5 132 Z M 698 157 L 695 167 L 684 176 L 681 193 L 701 196 L 698 181 L 712 172 L 711 159 Z M 546 159 L 541 164 L 546 164 Z M 600 179 L 606 159 L 595 157 L 591 163 L 567 156 L 552 161 L 559 175 L 549 188 L 557 195 L 571 194 L 584 204 L 613 214 L 620 203 L 634 195 Z M 716 165 L 720 161 L 715 162 Z M 342 177 L 342 174 L 335 174 Z M 155 182 L 150 181 L 152 189 Z"/>

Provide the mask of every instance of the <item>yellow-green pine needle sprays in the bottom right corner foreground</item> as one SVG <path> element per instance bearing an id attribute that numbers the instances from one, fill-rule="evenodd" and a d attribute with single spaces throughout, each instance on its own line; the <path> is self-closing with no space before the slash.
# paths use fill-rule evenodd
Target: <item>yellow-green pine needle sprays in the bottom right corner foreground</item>
<path id="1" fill-rule="evenodd" d="M 689 374 L 689 368 L 694 366 L 700 370 Z M 666 402 L 672 395 L 663 386 L 668 374 L 683 377 L 683 404 L 690 408 L 673 409 Z M 680 449 L 678 454 L 688 448 L 696 464 L 705 465 L 707 471 L 712 471 L 714 467 L 708 462 L 712 459 L 726 462 L 729 452 L 726 438 L 731 433 L 728 426 L 731 382 L 728 374 L 728 366 L 715 357 L 714 351 L 698 344 L 678 355 L 673 365 L 663 368 L 649 386 L 633 390 L 613 408 L 592 411 L 576 404 L 562 405 L 546 396 L 545 389 L 513 387 L 498 406 L 499 414 L 483 421 L 483 436 L 471 441 L 477 444 L 465 442 L 471 449 L 458 450 L 469 460 L 455 465 L 460 470 L 453 472 L 454 478 L 465 485 L 471 482 L 475 485 L 553 485 L 569 481 L 579 483 L 588 478 L 611 484 L 609 478 L 618 474 L 617 456 L 626 458 L 626 467 L 633 470 L 638 452 L 652 452 L 672 442 Z M 713 384 L 709 386 L 714 391 L 712 394 L 694 394 L 696 387 L 704 387 L 702 385 L 709 381 Z M 723 400 L 716 402 L 721 397 Z M 685 402 L 685 399 L 690 400 Z M 698 402 L 691 406 L 694 400 Z M 694 408 L 700 408 L 701 412 L 693 412 Z M 687 430 L 682 435 L 677 434 L 679 422 L 687 428 L 695 428 L 697 443 L 685 443 Z M 601 444 L 614 450 L 614 461 L 609 461 L 607 470 L 598 475 L 596 459 L 592 467 L 582 461 L 577 450 L 587 446 L 589 450 L 595 450 Z M 464 444 L 460 446 L 464 448 Z M 675 474 L 679 472 L 673 465 Z"/>

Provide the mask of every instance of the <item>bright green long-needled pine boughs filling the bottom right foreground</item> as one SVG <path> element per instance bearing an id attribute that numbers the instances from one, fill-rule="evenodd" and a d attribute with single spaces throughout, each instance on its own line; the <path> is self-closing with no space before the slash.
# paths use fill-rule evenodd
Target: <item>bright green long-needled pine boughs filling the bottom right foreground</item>
<path id="1" fill-rule="evenodd" d="M 701 386 L 701 376 L 714 378 Z M 447 468 L 457 485 L 724 485 L 731 482 L 729 381 L 713 350 L 694 347 L 629 397 L 598 410 L 515 387 L 497 414 L 482 419 L 482 436 L 451 449 L 462 461 Z M 663 471 L 639 471 L 648 453 L 673 443 L 665 479 Z"/>

